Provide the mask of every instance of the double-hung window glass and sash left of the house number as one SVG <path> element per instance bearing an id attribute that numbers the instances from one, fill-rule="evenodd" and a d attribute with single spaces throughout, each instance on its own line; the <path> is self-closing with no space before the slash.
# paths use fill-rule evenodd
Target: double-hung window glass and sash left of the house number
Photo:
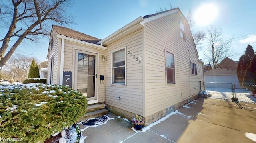
<path id="1" fill-rule="evenodd" d="M 112 53 L 112 84 L 125 84 L 125 49 Z"/>

